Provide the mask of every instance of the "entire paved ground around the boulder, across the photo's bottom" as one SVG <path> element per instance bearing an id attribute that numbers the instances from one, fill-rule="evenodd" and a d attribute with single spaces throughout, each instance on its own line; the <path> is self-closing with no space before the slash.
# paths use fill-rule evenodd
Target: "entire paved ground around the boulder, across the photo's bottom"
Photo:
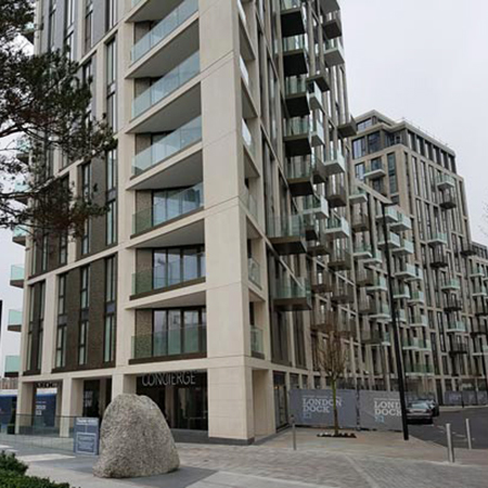
<path id="1" fill-rule="evenodd" d="M 79 488 L 487 488 L 488 450 L 457 450 L 447 463 L 446 449 L 397 433 L 358 433 L 357 439 L 317 437 L 297 429 L 298 450 L 290 431 L 248 447 L 178 445 L 182 467 L 167 476 L 131 480 L 94 478 L 92 458 L 75 457 L 11 442 L 29 473 L 68 481 Z"/>

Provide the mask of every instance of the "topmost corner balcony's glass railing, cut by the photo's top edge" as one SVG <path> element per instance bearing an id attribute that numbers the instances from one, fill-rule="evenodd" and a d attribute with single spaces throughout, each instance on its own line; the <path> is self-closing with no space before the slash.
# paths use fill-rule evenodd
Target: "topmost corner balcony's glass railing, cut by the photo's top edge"
<path id="1" fill-rule="evenodd" d="M 184 0 L 180 3 L 134 44 L 131 51 L 132 63 L 150 52 L 197 11 L 198 0 Z"/>

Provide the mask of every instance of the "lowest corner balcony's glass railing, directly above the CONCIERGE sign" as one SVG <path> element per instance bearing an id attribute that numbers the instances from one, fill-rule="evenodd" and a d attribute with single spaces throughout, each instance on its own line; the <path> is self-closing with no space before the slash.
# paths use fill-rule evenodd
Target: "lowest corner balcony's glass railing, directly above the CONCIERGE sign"
<path id="1" fill-rule="evenodd" d="M 189 326 L 132 337 L 131 362 L 204 358 L 207 354 L 207 328 Z"/>

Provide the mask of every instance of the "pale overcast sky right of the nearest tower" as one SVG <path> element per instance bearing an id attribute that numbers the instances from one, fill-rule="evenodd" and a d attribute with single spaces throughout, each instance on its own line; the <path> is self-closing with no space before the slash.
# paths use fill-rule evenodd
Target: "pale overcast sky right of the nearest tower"
<path id="1" fill-rule="evenodd" d="M 448 143 L 472 236 L 488 244 L 488 0 L 342 0 L 352 115 L 406 117 Z"/>

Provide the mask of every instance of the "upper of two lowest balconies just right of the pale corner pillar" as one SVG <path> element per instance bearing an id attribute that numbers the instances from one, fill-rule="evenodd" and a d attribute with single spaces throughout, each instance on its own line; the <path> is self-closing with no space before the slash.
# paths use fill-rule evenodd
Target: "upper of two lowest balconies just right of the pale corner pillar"
<path id="1" fill-rule="evenodd" d="M 299 215 L 275 218 L 271 221 L 269 239 L 281 256 L 307 252 L 305 222 Z"/>

